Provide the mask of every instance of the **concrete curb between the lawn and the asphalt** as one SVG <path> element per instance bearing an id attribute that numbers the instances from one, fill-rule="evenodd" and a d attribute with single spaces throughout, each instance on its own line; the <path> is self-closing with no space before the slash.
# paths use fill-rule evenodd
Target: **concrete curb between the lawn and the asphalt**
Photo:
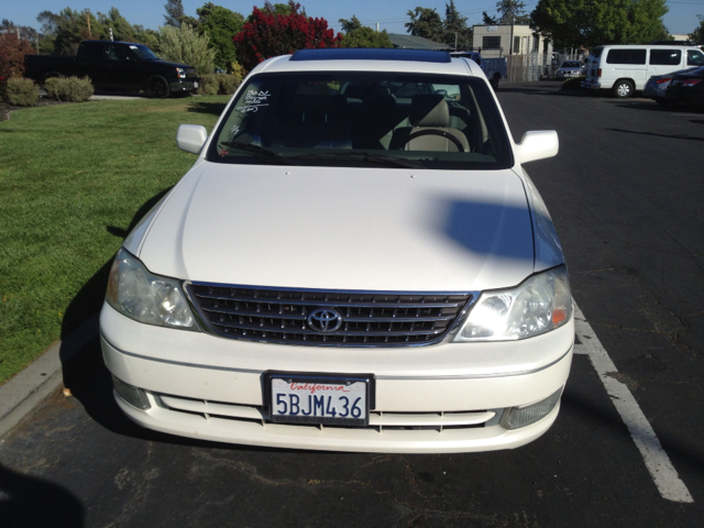
<path id="1" fill-rule="evenodd" d="M 98 337 L 98 321 L 96 314 L 0 386 L 0 437 L 64 382 L 64 372 L 76 366 L 86 345 Z"/>

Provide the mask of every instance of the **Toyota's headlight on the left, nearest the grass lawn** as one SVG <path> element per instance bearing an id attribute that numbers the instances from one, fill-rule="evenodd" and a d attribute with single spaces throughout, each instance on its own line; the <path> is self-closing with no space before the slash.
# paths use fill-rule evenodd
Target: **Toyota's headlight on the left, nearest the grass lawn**
<path id="1" fill-rule="evenodd" d="M 178 280 L 152 275 L 123 249 L 112 263 L 106 300 L 120 314 L 146 324 L 199 330 Z"/>

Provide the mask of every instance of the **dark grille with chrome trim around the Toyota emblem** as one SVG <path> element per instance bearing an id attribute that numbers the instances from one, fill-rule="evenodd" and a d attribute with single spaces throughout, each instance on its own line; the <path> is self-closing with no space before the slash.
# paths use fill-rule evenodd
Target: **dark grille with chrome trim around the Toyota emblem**
<path id="1" fill-rule="evenodd" d="M 219 336 L 289 344 L 393 346 L 440 341 L 472 300 L 471 294 L 362 293 L 267 289 L 189 284 L 208 328 Z M 308 323 L 318 309 L 342 317 L 336 331 Z"/>

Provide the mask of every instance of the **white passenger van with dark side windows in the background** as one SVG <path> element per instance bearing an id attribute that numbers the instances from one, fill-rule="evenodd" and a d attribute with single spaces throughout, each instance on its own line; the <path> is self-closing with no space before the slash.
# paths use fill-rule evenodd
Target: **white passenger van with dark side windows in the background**
<path id="1" fill-rule="evenodd" d="M 585 88 L 612 90 L 626 99 L 642 90 L 653 75 L 690 66 L 704 66 L 704 53 L 695 46 L 662 44 L 607 45 L 592 48 L 586 63 Z"/>

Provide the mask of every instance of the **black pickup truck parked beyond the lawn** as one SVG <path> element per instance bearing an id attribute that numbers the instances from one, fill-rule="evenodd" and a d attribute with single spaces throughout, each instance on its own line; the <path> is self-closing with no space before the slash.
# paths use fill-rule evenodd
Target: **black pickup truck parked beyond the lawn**
<path id="1" fill-rule="evenodd" d="M 199 80 L 196 68 L 162 61 L 131 42 L 84 41 L 75 57 L 24 56 L 24 77 L 37 82 L 73 75 L 90 77 L 98 88 L 145 90 L 152 97 L 195 91 Z"/>

